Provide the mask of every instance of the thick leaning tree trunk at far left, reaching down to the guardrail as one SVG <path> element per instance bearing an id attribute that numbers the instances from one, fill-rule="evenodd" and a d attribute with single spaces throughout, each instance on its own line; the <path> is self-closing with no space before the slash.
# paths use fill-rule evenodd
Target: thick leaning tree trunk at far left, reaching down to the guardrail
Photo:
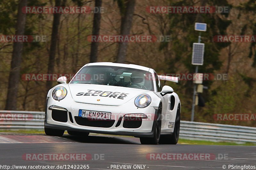
<path id="1" fill-rule="evenodd" d="M 15 35 L 24 35 L 26 14 L 22 13 L 22 7 L 27 6 L 27 0 L 20 0 L 17 15 Z M 5 110 L 16 110 L 17 96 L 20 80 L 20 64 L 22 59 L 23 42 L 14 42 L 12 50 L 11 70 L 8 82 L 8 92 Z"/>

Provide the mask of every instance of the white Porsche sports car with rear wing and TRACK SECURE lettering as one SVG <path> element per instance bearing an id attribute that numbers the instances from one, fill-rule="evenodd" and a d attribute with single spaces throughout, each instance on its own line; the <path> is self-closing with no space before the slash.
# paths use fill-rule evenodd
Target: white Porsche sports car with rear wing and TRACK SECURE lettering
<path id="1" fill-rule="evenodd" d="M 90 132 L 140 137 L 141 144 L 177 144 L 180 99 L 172 87 L 178 78 L 159 76 L 155 70 L 120 63 L 89 63 L 67 84 L 49 90 L 46 135 L 88 136 Z"/>

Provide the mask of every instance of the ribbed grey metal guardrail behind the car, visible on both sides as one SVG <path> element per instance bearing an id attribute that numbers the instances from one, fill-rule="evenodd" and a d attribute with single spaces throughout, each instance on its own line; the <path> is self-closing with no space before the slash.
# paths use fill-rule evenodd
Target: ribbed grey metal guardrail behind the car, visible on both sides
<path id="1" fill-rule="evenodd" d="M 44 129 L 44 112 L 0 110 L 0 129 Z M 256 143 L 256 128 L 181 121 L 180 138 Z"/>

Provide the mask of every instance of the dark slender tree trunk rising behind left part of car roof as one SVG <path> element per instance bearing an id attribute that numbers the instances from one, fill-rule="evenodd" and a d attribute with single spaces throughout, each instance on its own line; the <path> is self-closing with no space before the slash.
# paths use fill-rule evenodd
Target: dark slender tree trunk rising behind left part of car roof
<path id="1" fill-rule="evenodd" d="M 95 0 L 95 7 L 98 7 L 100 9 L 101 5 L 102 5 L 102 0 Z M 101 19 L 100 11 L 94 12 L 92 35 L 99 35 L 100 34 L 100 19 Z M 91 44 L 91 54 L 90 54 L 90 63 L 97 62 L 98 46 L 99 46 L 99 42 L 92 42 L 92 44 Z"/>

